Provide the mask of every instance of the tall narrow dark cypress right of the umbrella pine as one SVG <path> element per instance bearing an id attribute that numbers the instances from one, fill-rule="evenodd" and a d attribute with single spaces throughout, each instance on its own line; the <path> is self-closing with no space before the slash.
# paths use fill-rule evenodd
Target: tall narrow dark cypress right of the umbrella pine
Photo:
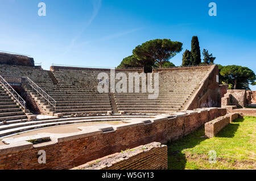
<path id="1" fill-rule="evenodd" d="M 191 40 L 191 62 L 192 65 L 199 65 L 201 63 L 201 51 L 197 36 L 193 36 Z"/>

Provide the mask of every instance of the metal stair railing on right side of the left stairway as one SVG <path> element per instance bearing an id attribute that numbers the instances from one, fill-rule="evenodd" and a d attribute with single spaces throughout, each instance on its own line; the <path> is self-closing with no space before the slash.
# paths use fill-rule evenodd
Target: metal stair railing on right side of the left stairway
<path id="1" fill-rule="evenodd" d="M 27 83 L 32 87 L 38 94 L 40 94 L 47 102 L 48 105 L 52 105 L 54 110 L 56 110 L 56 100 L 54 100 L 51 96 L 49 96 L 43 89 L 41 89 L 35 82 L 33 82 L 30 78 L 26 77 Z"/>

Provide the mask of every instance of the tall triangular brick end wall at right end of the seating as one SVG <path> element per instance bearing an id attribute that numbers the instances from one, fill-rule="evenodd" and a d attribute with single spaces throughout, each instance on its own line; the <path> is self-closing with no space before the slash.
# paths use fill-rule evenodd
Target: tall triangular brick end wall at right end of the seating
<path id="1" fill-rule="evenodd" d="M 203 79 L 199 89 L 192 95 L 185 110 L 193 110 L 203 107 L 220 107 L 221 90 L 218 82 L 218 66 L 213 65 L 209 73 Z"/>

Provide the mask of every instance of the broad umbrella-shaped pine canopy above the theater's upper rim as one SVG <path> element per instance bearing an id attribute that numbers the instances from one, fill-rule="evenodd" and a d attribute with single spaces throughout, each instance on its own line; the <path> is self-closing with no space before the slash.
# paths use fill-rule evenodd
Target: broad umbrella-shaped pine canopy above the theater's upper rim
<path id="1" fill-rule="evenodd" d="M 133 55 L 139 61 L 151 61 L 154 65 L 163 66 L 164 62 L 168 62 L 182 50 L 182 43 L 179 41 L 171 41 L 170 39 L 150 40 L 142 45 L 138 45 L 133 50 Z"/>

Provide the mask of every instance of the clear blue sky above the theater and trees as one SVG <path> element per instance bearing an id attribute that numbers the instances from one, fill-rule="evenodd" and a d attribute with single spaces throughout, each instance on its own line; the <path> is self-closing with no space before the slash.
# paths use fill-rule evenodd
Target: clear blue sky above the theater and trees
<path id="1" fill-rule="evenodd" d="M 38 16 L 38 3 L 46 16 Z M 217 16 L 209 16 L 209 3 Z M 0 0 L 0 50 L 51 64 L 115 67 L 152 39 L 183 43 L 170 61 L 181 65 L 191 38 L 199 37 L 216 64 L 248 66 L 256 73 L 256 1 Z M 256 86 L 251 87 L 256 90 Z"/>

